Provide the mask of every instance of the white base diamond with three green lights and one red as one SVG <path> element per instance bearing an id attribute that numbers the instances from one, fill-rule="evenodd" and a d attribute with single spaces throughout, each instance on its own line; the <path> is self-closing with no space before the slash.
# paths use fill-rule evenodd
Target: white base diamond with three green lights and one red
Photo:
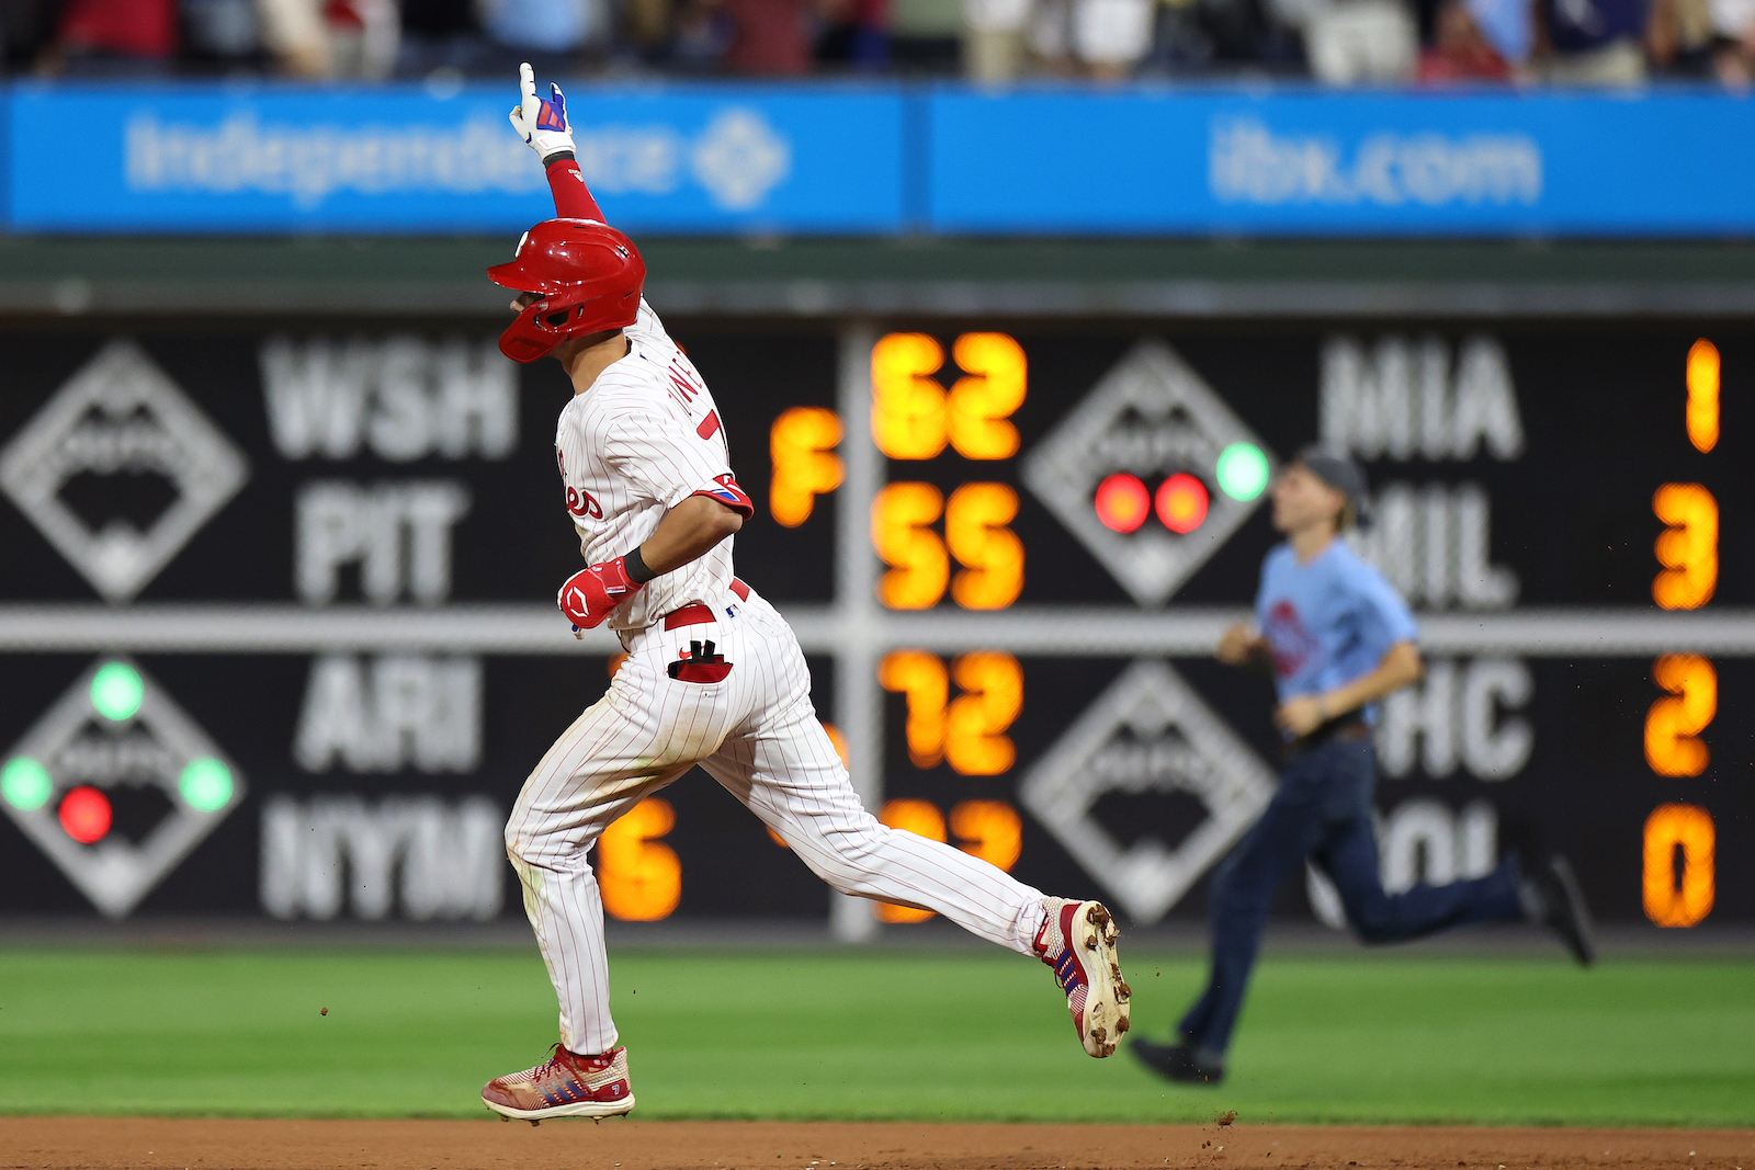
<path id="1" fill-rule="evenodd" d="M 0 796 L 91 905 L 125 917 L 244 800 L 244 779 L 137 665 L 102 658 L 5 754 Z"/>

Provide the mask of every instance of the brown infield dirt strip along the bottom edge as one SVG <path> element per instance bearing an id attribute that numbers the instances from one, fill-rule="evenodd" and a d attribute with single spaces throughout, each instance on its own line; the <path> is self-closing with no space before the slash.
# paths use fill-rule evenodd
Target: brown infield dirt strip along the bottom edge
<path id="1" fill-rule="evenodd" d="M 1755 1170 L 1755 1130 L 0 1117 L 0 1170 Z"/>

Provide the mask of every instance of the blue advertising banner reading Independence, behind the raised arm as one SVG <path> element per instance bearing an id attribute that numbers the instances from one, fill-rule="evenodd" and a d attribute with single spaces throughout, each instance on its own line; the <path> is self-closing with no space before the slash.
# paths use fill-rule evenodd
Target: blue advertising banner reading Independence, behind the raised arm
<path id="1" fill-rule="evenodd" d="M 893 233 L 890 89 L 590 89 L 579 167 L 648 233 Z M 507 88 L 12 89 L 11 228 L 42 233 L 490 233 L 553 214 Z"/>

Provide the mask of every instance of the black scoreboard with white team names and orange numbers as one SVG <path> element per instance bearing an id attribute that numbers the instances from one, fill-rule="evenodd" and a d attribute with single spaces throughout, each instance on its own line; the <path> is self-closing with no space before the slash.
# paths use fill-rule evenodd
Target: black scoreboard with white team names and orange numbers
<path id="1" fill-rule="evenodd" d="M 662 305 L 660 305 L 662 310 Z M 1422 624 L 1379 712 L 1385 882 L 1567 853 L 1606 921 L 1755 919 L 1755 335 L 1722 321 L 674 319 L 758 514 L 739 575 L 899 828 L 1135 924 L 1195 917 L 1274 788 L 1211 660 L 1302 446 Z M 0 912 L 491 919 L 523 777 L 618 667 L 497 323 L 0 332 Z M 834 896 L 693 772 L 611 916 Z M 1276 912 L 1339 924 L 1322 875 Z"/>

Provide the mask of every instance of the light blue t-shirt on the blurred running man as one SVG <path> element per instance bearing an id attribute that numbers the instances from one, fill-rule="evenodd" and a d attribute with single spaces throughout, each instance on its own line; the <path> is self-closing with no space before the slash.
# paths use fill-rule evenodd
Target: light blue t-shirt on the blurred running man
<path id="1" fill-rule="evenodd" d="M 1279 702 L 1364 677 L 1392 646 L 1420 637 L 1408 603 L 1343 540 L 1309 565 L 1299 565 L 1290 544 L 1274 547 L 1262 561 L 1255 617 L 1274 654 Z M 1374 703 L 1364 714 L 1376 723 Z"/>

